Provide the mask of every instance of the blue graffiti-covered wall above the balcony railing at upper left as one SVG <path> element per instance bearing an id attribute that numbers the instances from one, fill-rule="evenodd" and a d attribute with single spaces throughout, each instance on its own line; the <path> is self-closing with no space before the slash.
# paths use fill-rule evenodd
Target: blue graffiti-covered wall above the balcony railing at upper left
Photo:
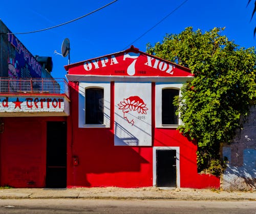
<path id="1" fill-rule="evenodd" d="M 41 77 L 41 65 L 35 57 L 13 35 L 8 34 L 8 41 L 15 48 L 9 50 L 9 77 Z"/>

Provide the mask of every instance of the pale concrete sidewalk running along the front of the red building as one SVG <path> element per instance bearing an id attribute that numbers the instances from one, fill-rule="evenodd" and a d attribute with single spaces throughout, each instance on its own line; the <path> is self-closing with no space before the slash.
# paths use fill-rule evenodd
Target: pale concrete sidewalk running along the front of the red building
<path id="1" fill-rule="evenodd" d="M 256 201 L 256 191 L 221 191 L 211 189 L 168 189 L 144 188 L 10 188 L 0 189 L 0 199 L 162 199 L 162 200 L 250 200 Z"/>

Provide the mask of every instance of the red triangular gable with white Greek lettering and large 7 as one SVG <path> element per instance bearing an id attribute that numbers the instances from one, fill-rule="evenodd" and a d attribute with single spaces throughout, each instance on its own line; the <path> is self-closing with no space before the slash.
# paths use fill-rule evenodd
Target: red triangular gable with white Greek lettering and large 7
<path id="1" fill-rule="evenodd" d="M 65 66 L 69 75 L 103 76 L 193 76 L 190 70 L 173 62 L 130 49 Z"/>

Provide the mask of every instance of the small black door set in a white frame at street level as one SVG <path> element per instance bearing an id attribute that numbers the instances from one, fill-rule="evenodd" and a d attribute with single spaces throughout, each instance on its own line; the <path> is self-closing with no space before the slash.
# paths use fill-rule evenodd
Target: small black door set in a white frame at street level
<path id="1" fill-rule="evenodd" d="M 157 150 L 156 164 L 156 185 L 161 187 L 176 187 L 176 150 Z"/>

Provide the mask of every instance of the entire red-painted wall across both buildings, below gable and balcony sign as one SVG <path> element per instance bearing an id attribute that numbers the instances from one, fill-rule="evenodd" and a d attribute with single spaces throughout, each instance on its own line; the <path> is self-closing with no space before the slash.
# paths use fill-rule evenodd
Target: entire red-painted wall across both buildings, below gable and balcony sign
<path id="1" fill-rule="evenodd" d="M 180 147 L 180 185 L 218 188 L 220 179 L 199 175 L 197 146 L 175 129 L 152 128 L 153 146 L 114 146 L 114 83 L 111 84 L 111 127 L 78 129 L 78 86 L 70 90 L 69 117 L 4 118 L 0 134 L 0 185 L 45 187 L 47 121 L 66 121 L 67 187 L 143 187 L 153 185 L 153 146 Z M 152 118 L 155 118 L 155 85 L 152 86 Z M 155 127 L 154 119 L 152 127 Z M 73 164 L 73 157 L 79 164 Z"/>

